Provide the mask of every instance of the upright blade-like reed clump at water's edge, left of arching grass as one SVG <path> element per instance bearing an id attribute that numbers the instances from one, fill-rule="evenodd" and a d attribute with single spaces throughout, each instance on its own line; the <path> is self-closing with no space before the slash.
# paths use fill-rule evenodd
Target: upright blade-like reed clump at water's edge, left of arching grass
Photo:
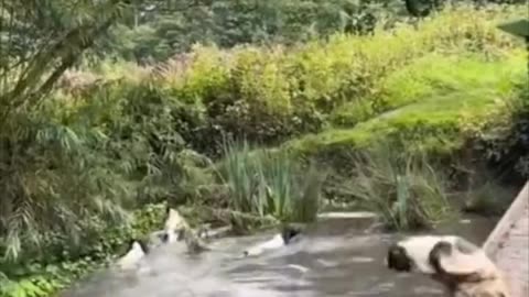
<path id="1" fill-rule="evenodd" d="M 287 153 L 252 151 L 247 142 L 226 142 L 219 177 L 228 185 L 234 210 L 282 221 L 313 221 L 324 174 L 304 168 Z"/>

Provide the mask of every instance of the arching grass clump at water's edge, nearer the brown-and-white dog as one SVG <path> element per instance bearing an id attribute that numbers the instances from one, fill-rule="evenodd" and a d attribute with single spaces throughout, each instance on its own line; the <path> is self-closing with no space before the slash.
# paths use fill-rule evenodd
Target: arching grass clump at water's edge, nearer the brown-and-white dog
<path id="1" fill-rule="evenodd" d="M 425 156 L 399 151 L 377 144 L 358 153 L 353 177 L 338 189 L 378 213 L 389 229 L 433 228 L 452 218 L 443 174 Z"/>

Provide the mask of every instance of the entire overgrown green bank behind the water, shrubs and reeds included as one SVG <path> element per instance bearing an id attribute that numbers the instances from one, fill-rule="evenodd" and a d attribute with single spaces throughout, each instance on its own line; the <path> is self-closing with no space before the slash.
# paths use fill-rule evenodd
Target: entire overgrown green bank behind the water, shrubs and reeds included
<path id="1" fill-rule="evenodd" d="M 0 129 L 0 296 L 46 296 L 106 265 L 160 226 L 152 205 L 251 231 L 339 198 L 431 228 L 457 212 L 454 191 L 485 185 L 477 165 L 527 177 L 527 53 L 496 29 L 521 11 L 71 73 Z"/>

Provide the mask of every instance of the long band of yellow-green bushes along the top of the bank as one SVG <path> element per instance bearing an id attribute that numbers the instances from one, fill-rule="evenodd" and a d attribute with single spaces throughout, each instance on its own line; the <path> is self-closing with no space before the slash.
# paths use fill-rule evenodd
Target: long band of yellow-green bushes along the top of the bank
<path id="1" fill-rule="evenodd" d="M 278 144 L 328 125 L 352 127 L 421 96 L 427 98 L 428 88 L 415 88 L 421 87 L 418 84 L 428 87 L 428 81 L 413 84 L 414 70 L 431 73 L 428 63 L 435 63 L 436 57 L 471 53 L 490 59 L 503 57 L 516 40 L 495 25 L 518 14 L 516 7 L 463 7 L 419 24 L 399 23 L 391 30 L 379 25 L 370 36 L 334 34 L 325 42 L 292 47 L 219 51 L 195 46 L 192 53 L 154 67 L 118 64 L 117 69 L 123 68 L 121 75 L 116 74 L 115 66 L 106 65 L 102 76 L 123 77 L 122 89 L 127 90 L 131 88 L 127 80 L 137 81 L 145 74 L 149 80 L 149 74 L 154 75 L 159 100 L 172 110 L 173 121 L 181 121 L 171 127 L 179 129 L 192 148 L 219 156 L 225 136 Z M 427 56 L 431 61 L 417 69 L 410 66 Z M 450 65 L 449 61 L 441 66 Z M 408 73 L 400 72 L 402 68 Z"/>

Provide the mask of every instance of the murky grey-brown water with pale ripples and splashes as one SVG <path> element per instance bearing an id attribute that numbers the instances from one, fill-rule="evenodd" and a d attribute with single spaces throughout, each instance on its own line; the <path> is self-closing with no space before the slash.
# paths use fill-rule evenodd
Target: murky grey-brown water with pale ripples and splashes
<path id="1" fill-rule="evenodd" d="M 496 219 L 471 218 L 441 229 L 483 243 Z M 214 251 L 183 255 L 180 243 L 154 250 L 136 272 L 102 272 L 82 282 L 65 297 L 323 297 L 443 296 L 425 277 L 388 271 L 384 260 L 395 234 L 319 227 L 302 241 L 258 257 L 242 250 L 270 234 L 222 239 Z"/>

